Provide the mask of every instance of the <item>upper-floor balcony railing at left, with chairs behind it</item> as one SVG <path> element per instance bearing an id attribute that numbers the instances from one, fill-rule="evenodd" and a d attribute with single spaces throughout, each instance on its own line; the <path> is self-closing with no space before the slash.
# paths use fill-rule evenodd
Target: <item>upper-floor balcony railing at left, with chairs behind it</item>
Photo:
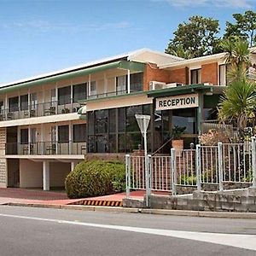
<path id="1" fill-rule="evenodd" d="M 78 102 L 60 104 L 60 102 L 44 102 L 30 105 L 27 109 L 9 108 L 0 111 L 0 121 L 26 119 L 60 113 L 76 113 L 80 108 Z"/>

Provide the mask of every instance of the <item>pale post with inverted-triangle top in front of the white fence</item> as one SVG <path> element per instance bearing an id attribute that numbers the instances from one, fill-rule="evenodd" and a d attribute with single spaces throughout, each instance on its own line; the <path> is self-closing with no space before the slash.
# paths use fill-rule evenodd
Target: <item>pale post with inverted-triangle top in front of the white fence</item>
<path id="1" fill-rule="evenodd" d="M 136 114 L 135 118 L 137 119 L 137 124 L 142 132 L 144 138 L 144 155 L 145 155 L 145 176 L 146 176 L 146 207 L 149 207 L 149 195 L 150 195 L 150 186 L 149 186 L 149 173 L 148 173 L 148 147 L 147 147 L 147 130 L 148 124 L 150 121 L 150 115 L 146 114 Z"/>

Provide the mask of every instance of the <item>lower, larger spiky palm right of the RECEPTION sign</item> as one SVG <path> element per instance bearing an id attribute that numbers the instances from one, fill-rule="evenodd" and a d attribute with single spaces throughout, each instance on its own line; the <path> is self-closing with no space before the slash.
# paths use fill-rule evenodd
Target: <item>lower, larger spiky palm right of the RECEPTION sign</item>
<path id="1" fill-rule="evenodd" d="M 241 136 L 244 128 L 254 122 L 256 110 L 256 84 L 246 78 L 234 80 L 224 90 L 218 104 L 218 118 L 236 125 Z"/>

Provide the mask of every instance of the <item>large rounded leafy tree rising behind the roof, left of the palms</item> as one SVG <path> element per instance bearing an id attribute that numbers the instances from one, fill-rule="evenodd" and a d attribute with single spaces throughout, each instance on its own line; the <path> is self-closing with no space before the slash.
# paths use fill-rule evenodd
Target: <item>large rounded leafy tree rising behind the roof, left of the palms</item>
<path id="1" fill-rule="evenodd" d="M 177 31 L 173 33 L 174 38 L 170 39 L 166 53 L 176 52 L 178 54 L 178 49 L 182 47 L 193 53 L 188 57 L 214 54 L 219 43 L 218 32 L 218 20 L 192 16 L 189 18 L 189 22 L 183 22 L 177 26 Z"/>

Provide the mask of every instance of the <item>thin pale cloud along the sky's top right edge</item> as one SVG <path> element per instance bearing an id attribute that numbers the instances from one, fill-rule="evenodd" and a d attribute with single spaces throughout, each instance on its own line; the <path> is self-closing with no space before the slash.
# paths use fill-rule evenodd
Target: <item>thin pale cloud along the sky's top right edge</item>
<path id="1" fill-rule="evenodd" d="M 196 6 L 216 6 L 228 7 L 233 9 L 249 9 L 253 7 L 255 0 L 153 0 L 154 2 L 167 2 L 172 6 L 185 8 Z"/>

